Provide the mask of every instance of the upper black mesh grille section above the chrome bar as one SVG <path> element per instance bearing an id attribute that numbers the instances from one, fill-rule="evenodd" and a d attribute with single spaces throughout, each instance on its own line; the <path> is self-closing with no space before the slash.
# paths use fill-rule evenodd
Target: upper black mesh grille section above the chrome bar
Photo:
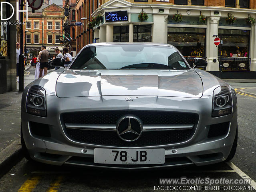
<path id="1" fill-rule="evenodd" d="M 69 112 L 62 114 L 62 119 L 64 123 L 116 124 L 121 116 L 127 114 L 138 116 L 143 124 L 196 124 L 198 121 L 198 115 L 194 113 L 135 110 Z"/>

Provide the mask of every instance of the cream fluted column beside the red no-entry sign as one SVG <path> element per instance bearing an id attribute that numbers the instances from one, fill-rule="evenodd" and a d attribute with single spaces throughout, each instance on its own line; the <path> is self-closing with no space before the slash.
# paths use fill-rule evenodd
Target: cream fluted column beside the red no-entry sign
<path id="1" fill-rule="evenodd" d="M 206 57 L 208 66 L 206 70 L 208 71 L 219 71 L 218 47 L 214 45 L 214 38 L 216 37 L 213 37 L 213 35 L 218 35 L 219 20 L 220 16 L 210 16 L 207 20 Z"/>

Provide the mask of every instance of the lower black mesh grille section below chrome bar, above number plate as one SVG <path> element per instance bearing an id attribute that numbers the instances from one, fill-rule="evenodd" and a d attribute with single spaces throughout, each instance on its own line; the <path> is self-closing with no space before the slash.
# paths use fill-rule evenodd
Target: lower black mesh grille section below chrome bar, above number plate
<path id="1" fill-rule="evenodd" d="M 111 146 L 153 146 L 184 142 L 192 137 L 194 129 L 143 132 L 133 142 L 121 140 L 117 132 L 66 129 L 67 136 L 77 142 Z"/>

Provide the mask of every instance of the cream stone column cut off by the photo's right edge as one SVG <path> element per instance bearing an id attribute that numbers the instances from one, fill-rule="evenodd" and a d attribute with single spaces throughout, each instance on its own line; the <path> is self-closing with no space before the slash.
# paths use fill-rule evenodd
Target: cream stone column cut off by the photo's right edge
<path id="1" fill-rule="evenodd" d="M 250 58 L 251 58 L 251 71 L 256 71 L 256 24 L 252 25 L 252 30 L 250 34 Z"/>

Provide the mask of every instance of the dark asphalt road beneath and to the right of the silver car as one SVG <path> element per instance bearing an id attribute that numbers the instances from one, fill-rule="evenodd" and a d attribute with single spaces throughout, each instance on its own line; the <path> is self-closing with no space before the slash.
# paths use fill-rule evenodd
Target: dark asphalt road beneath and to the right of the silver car
<path id="1" fill-rule="evenodd" d="M 33 70 L 30 70 L 32 76 Z M 29 75 L 28 75 L 29 76 Z M 256 83 L 230 83 L 234 88 L 255 87 Z M 161 170 L 101 170 L 73 166 L 32 164 L 22 159 L 0 179 L 1 192 L 150 192 L 164 186 L 160 178 L 242 179 L 256 181 L 256 96 L 238 94 L 238 148 L 232 162 L 210 166 L 189 166 Z M 1 111 L 0 111 L 1 112 Z M 11 116 L 12 114 L 10 114 Z M 18 130 L 17 130 L 18 131 Z M 16 133 L 18 134 L 18 133 Z M 167 185 L 166 185 L 167 186 Z M 252 191 L 252 184 L 213 184 L 223 188 L 192 188 L 204 184 L 174 184 L 172 191 Z M 185 188 L 184 188 L 185 187 Z M 209 187 L 209 186 L 208 186 Z M 227 188 L 228 187 L 228 188 Z M 161 188 L 167 190 L 168 188 Z M 157 190 L 160 191 L 160 190 Z M 171 191 L 171 190 L 169 190 Z"/>

